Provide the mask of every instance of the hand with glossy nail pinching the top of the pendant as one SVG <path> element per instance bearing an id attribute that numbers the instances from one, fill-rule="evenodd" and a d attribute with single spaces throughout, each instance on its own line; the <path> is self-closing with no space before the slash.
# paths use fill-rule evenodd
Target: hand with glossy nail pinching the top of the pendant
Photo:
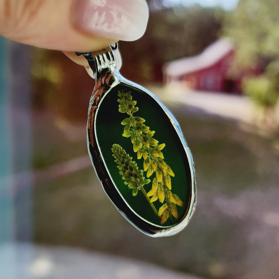
<path id="1" fill-rule="evenodd" d="M 0 0 L 0 34 L 11 40 L 63 51 L 96 51 L 118 40 L 134 41 L 146 29 L 145 0 Z"/>

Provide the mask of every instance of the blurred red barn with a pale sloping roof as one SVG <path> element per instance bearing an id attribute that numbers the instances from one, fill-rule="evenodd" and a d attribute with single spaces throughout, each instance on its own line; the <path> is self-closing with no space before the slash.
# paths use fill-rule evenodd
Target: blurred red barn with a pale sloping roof
<path id="1" fill-rule="evenodd" d="M 163 78 L 166 84 L 179 82 L 194 90 L 240 93 L 241 77 L 232 79 L 229 75 L 233 59 L 232 41 L 222 38 L 198 55 L 166 63 Z"/>

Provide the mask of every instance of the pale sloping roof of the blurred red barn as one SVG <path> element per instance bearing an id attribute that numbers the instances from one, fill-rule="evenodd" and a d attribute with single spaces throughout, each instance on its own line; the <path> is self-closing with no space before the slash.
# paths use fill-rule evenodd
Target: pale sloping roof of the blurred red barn
<path id="1" fill-rule="evenodd" d="M 168 76 L 181 76 L 196 72 L 214 65 L 232 50 L 234 50 L 232 40 L 221 38 L 198 55 L 167 62 L 163 67 L 163 73 Z"/>

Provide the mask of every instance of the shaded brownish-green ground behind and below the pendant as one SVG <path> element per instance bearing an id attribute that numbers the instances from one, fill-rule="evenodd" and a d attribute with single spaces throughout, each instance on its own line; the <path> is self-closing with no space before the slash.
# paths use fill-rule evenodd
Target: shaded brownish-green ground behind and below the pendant
<path id="1" fill-rule="evenodd" d="M 90 167 L 37 181 L 35 240 L 142 259 L 204 277 L 276 278 L 279 157 L 274 146 L 278 138 L 185 105 L 169 106 L 196 164 L 197 207 L 188 227 L 161 239 L 138 232 L 110 203 Z M 55 124 L 55 117 L 40 120 L 36 117 L 44 135 L 54 134 L 55 129 L 48 143 L 61 152 L 46 160 L 49 165 L 65 160 L 65 147 L 67 159 L 86 154 L 85 133 L 72 140 L 65 135 L 67 129 Z M 42 131 L 35 134 L 35 158 L 44 154 L 40 137 Z"/>

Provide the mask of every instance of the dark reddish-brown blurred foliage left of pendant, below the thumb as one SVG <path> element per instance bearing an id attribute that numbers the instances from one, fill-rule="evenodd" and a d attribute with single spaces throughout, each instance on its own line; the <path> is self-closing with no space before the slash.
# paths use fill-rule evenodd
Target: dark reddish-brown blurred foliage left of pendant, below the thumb
<path id="1" fill-rule="evenodd" d="M 86 121 L 86 92 L 92 91 L 92 82 L 79 65 L 60 51 L 32 48 L 30 78 L 34 109 L 53 112 L 70 122 Z"/>

